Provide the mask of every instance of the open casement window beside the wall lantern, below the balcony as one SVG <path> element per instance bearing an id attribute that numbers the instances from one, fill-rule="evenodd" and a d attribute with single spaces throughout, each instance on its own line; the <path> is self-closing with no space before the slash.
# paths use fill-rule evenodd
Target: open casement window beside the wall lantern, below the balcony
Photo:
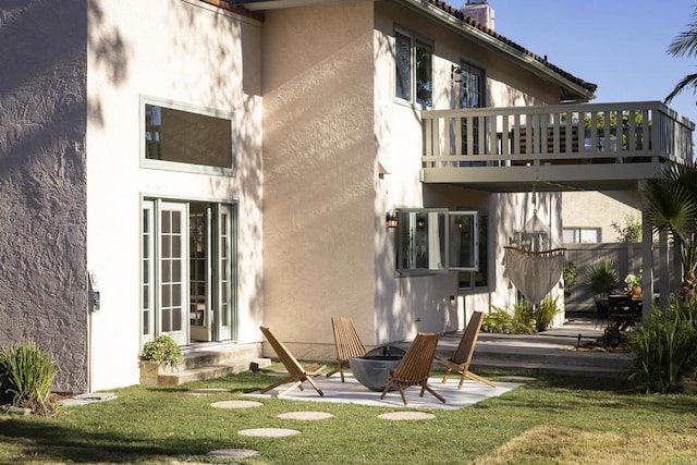
<path id="1" fill-rule="evenodd" d="M 432 274 L 478 268 L 476 212 L 414 208 L 401 209 L 396 217 L 399 273 Z"/>

